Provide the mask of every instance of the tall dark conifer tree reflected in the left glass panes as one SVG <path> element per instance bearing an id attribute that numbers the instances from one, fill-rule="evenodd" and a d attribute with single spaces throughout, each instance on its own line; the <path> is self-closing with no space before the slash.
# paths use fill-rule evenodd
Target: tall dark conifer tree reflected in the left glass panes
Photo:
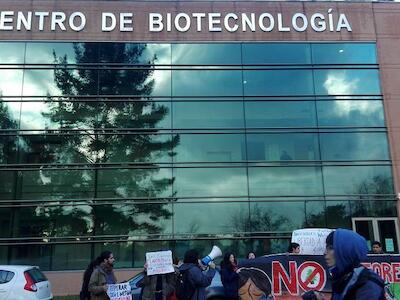
<path id="1" fill-rule="evenodd" d="M 102 51 L 101 61 L 123 61 L 126 64 L 138 63 L 146 49 L 146 45 L 128 46 L 116 43 L 105 43 L 101 47 L 107 48 Z M 96 44 L 78 44 L 74 49 L 75 61 L 78 65 L 98 59 L 99 51 Z M 151 135 L 157 133 L 157 123 L 168 113 L 167 107 L 151 102 L 151 98 L 148 97 L 154 87 L 152 75 L 156 57 L 148 62 L 148 68 L 140 71 L 115 71 L 105 68 L 100 72 L 94 68 L 73 70 L 67 66 L 66 56 L 58 57 L 57 53 L 54 53 L 54 58 L 55 82 L 64 96 L 62 102 L 48 102 L 49 112 L 43 115 L 50 120 L 50 123 L 59 124 L 61 129 L 79 129 L 80 132 L 79 134 L 57 136 L 58 142 L 53 143 L 51 149 L 54 154 L 51 163 L 79 162 L 100 165 L 105 163 L 147 163 L 147 168 L 141 169 L 139 172 L 132 169 L 107 172 L 107 176 L 101 177 L 101 182 L 98 168 L 93 172 L 80 172 L 80 181 L 82 185 L 85 182 L 94 183 L 95 198 L 102 197 L 98 192 L 99 187 L 102 187 L 104 194 L 109 198 L 160 197 L 172 182 L 168 178 L 155 178 L 159 168 L 151 162 L 156 157 L 170 154 L 178 142 L 178 137 L 174 140 L 155 141 L 154 135 Z M 76 96 L 97 94 L 99 74 L 102 94 L 133 94 L 144 97 L 137 97 L 136 102 L 107 101 L 107 98 L 103 102 L 88 101 L 88 99 L 79 102 Z M 100 130 L 95 131 L 93 128 L 99 128 L 101 132 Z M 115 128 L 146 129 L 146 132 L 150 134 L 118 134 L 115 131 L 107 130 Z M 107 134 L 110 132 L 112 134 Z M 46 153 L 46 149 L 43 148 L 41 155 L 45 159 L 49 153 Z M 120 166 L 116 165 L 115 168 L 118 169 Z M 44 171 L 43 173 L 51 178 L 51 184 L 54 185 L 53 190 L 59 189 L 55 191 L 57 194 L 67 193 L 68 187 L 65 186 L 66 179 L 63 172 Z M 107 191 L 104 191 L 103 186 L 107 186 Z M 95 234 L 100 235 L 132 232 L 159 233 L 162 228 L 157 222 L 160 219 L 168 219 L 171 215 L 163 204 L 135 205 L 133 202 L 106 206 L 92 205 L 90 209 L 82 209 L 80 214 L 75 215 L 64 209 L 49 208 L 46 210 L 46 214 L 49 215 L 49 220 L 67 214 L 78 221 L 85 218 L 85 214 L 91 215 L 93 221 L 87 221 L 87 223 L 92 223 L 91 227 L 94 226 Z M 70 219 L 70 222 L 74 221 Z M 89 229 L 90 231 L 92 229 Z M 63 233 L 67 234 L 65 231 Z M 69 233 L 75 234 L 76 231 L 71 227 Z M 78 233 L 80 233 L 79 230 Z"/>

